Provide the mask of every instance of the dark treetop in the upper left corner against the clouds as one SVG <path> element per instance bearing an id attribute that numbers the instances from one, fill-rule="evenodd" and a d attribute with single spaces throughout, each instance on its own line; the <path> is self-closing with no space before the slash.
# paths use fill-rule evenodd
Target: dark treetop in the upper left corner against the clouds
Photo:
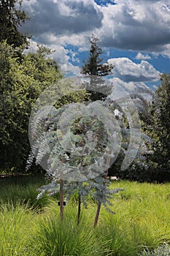
<path id="1" fill-rule="evenodd" d="M 26 35 L 18 31 L 26 19 L 26 12 L 21 10 L 20 0 L 0 1 L 0 42 L 7 40 L 9 45 L 18 47 L 26 43 Z"/>

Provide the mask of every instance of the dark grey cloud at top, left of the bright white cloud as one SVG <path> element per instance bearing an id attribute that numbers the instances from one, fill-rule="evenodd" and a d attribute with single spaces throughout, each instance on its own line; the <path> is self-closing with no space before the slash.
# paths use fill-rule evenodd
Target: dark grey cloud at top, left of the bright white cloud
<path id="1" fill-rule="evenodd" d="M 31 19 L 23 26 L 36 35 L 78 34 L 101 26 L 103 13 L 92 0 L 34 0 L 23 4 Z M 89 22 L 90 20 L 90 22 Z"/>

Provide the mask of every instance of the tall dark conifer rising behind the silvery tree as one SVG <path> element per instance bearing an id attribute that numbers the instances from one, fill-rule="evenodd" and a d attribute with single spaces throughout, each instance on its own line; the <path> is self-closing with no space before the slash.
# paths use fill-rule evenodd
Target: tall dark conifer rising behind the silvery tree
<path id="1" fill-rule="evenodd" d="M 88 61 L 83 61 L 84 65 L 80 68 L 80 72 L 82 75 L 90 76 L 91 98 L 96 100 L 103 98 L 104 94 L 107 93 L 108 88 L 102 77 L 111 74 L 114 66 L 112 64 L 102 63 L 103 59 L 100 56 L 103 50 L 99 47 L 98 38 L 94 34 L 91 35 L 89 43 Z"/>

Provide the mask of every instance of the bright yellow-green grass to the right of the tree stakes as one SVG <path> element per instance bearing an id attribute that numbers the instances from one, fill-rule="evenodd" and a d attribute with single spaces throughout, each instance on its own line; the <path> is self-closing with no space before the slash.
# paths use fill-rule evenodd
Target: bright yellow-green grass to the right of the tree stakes
<path id="1" fill-rule="evenodd" d="M 102 211 L 98 227 L 109 241 L 111 255 L 136 255 L 146 246 L 170 243 L 169 184 L 119 182 L 117 187 L 125 190 L 113 198 L 116 214 Z"/>

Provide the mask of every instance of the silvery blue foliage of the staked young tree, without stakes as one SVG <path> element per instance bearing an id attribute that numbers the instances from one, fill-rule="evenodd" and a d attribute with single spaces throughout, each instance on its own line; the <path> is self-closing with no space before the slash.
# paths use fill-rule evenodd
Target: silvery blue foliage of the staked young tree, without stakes
<path id="1" fill-rule="evenodd" d="M 98 103 L 92 102 L 90 104 L 95 109 Z M 103 104 L 106 105 L 106 102 L 103 102 Z M 115 124 L 116 128 L 112 132 L 112 122 L 107 120 L 109 128 L 105 129 L 97 116 L 96 118 L 95 115 L 90 117 L 84 113 L 78 119 L 74 119 L 75 110 L 72 109 L 72 105 L 69 108 L 69 116 L 65 114 L 65 108 L 68 108 L 68 106 L 63 106 L 62 110 L 61 108 L 52 108 L 47 118 L 36 118 L 36 122 L 31 127 L 34 135 L 34 146 L 28 157 L 27 166 L 31 165 L 34 157 L 36 158 L 36 164 L 41 164 L 42 161 L 46 160 L 47 176 L 51 180 L 50 184 L 38 189 L 40 193 L 37 198 L 41 198 L 45 192 L 48 195 L 59 192 L 59 180 L 62 174 L 66 200 L 69 200 L 69 197 L 78 191 L 83 203 L 90 195 L 98 203 L 103 203 L 107 207 L 107 205 L 110 205 L 109 199 L 112 194 L 122 190 L 109 189 L 109 180 L 104 178 L 105 173 L 103 173 L 103 165 L 106 159 L 114 158 L 120 151 L 120 125 Z M 104 111 L 103 108 L 101 108 L 101 111 Z M 43 115 L 41 113 L 37 116 Z M 59 123 L 62 129 L 58 129 Z M 39 136 L 37 130 L 42 126 L 45 126 L 45 132 Z M 82 132 L 84 132 L 85 138 L 81 136 Z M 109 148 L 110 145 L 108 147 L 108 138 L 111 137 L 115 142 L 114 152 L 112 148 Z M 84 144 L 85 146 L 82 146 Z M 79 167 L 80 171 L 75 172 L 75 166 L 76 169 Z M 96 172 L 98 172 L 98 175 L 96 175 Z M 69 179 L 65 179 L 68 175 Z M 75 176 L 79 178 L 82 176 L 82 181 L 75 181 Z"/>

